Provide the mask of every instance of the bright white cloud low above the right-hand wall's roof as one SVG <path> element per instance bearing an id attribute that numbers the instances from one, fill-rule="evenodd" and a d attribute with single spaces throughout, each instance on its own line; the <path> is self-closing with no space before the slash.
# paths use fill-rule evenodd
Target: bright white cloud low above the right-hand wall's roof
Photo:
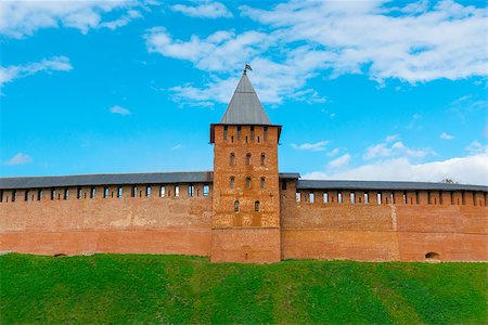
<path id="1" fill-rule="evenodd" d="M 488 185 L 488 152 L 423 164 L 412 164 L 408 158 L 386 159 L 345 171 L 316 171 L 304 178 L 422 182 L 452 179 L 459 183 Z"/>

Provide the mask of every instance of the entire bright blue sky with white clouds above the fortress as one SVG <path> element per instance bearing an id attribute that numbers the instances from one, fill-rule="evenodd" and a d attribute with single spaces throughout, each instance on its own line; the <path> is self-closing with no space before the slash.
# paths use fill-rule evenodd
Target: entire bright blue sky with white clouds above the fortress
<path id="1" fill-rule="evenodd" d="M 484 1 L 0 3 L 0 174 L 211 170 L 247 62 L 280 170 L 488 184 Z"/>

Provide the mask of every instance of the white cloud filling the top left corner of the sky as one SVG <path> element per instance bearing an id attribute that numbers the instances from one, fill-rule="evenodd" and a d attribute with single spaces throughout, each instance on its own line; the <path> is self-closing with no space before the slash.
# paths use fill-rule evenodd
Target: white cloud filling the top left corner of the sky
<path id="1" fill-rule="evenodd" d="M 82 34 L 91 28 L 117 28 L 140 17 L 132 8 L 138 1 L 1 1 L 0 35 L 13 38 L 30 36 L 40 28 L 60 26 L 79 29 Z M 113 22 L 102 22 L 102 15 L 123 11 L 125 14 Z"/>

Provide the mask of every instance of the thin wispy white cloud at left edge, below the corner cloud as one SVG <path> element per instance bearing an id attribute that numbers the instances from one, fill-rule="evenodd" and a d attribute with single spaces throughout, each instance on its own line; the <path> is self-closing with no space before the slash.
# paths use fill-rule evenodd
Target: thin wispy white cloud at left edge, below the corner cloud
<path id="1" fill-rule="evenodd" d="M 43 58 L 40 62 L 27 63 L 23 65 L 0 66 L 0 87 L 17 78 L 27 77 L 39 72 L 69 72 L 73 66 L 66 56 L 53 56 Z"/>

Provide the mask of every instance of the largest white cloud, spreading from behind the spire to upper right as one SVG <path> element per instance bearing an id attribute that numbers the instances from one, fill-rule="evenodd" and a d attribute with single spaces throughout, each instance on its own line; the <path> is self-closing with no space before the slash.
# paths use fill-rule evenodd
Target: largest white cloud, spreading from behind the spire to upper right
<path id="1" fill-rule="evenodd" d="M 229 101 L 245 62 L 254 68 L 252 79 L 261 101 L 271 104 L 284 99 L 323 103 L 323 95 L 306 88 L 319 75 L 365 74 L 381 84 L 391 78 L 414 84 L 487 75 L 485 9 L 450 0 L 401 8 L 386 2 L 291 1 L 271 10 L 241 6 L 242 15 L 265 28 L 242 34 L 219 30 L 206 38 L 193 35 L 180 40 L 158 27 L 145 36 L 146 46 L 150 52 L 189 61 L 209 73 L 203 84 L 171 89 L 174 100 L 203 106 Z M 418 128 L 415 120 L 410 128 Z"/>

